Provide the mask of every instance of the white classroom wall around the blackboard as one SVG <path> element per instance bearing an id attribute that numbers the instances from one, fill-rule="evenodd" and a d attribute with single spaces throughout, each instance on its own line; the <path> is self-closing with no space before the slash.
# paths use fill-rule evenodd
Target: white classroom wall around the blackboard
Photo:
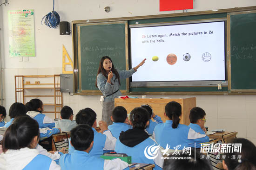
<path id="1" fill-rule="evenodd" d="M 0 0 L 3 2 L 4 0 Z M 50 29 L 41 25 L 44 15 L 53 9 L 53 0 L 8 0 L 9 5 L 0 7 L 1 62 L 4 81 L 4 106 L 15 102 L 14 75 L 60 74 L 62 67 L 62 44 L 72 57 L 72 36 L 59 35 L 59 28 Z M 109 13 L 104 7 L 110 6 Z M 194 9 L 188 12 L 225 9 L 234 7 L 256 6 L 255 0 L 194 0 Z M 35 53 L 28 62 L 19 62 L 17 57 L 8 55 L 8 10 L 34 9 Z M 180 11 L 159 12 L 159 0 L 55 0 L 55 11 L 61 21 L 133 17 Z M 148 96 L 160 98 L 163 96 Z M 164 96 L 166 97 L 166 96 Z M 172 98 L 190 96 L 170 96 Z M 195 96 L 197 106 L 207 113 L 206 126 L 209 129 L 226 128 L 238 131 L 238 136 L 248 138 L 256 144 L 256 96 Z M 64 94 L 64 105 L 77 113 L 81 108 L 91 107 L 101 120 L 100 96 L 69 96 Z M 8 120 L 9 118 L 7 118 Z"/>

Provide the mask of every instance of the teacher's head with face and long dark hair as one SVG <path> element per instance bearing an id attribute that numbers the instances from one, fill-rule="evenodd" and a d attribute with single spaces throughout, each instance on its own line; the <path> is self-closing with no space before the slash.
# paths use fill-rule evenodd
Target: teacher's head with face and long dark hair
<path id="1" fill-rule="evenodd" d="M 108 57 L 108 56 L 101 57 L 101 61 L 100 61 L 100 65 L 99 65 L 99 68 L 98 68 L 97 76 L 98 76 L 98 74 L 101 73 L 103 76 L 105 76 L 108 79 L 108 71 L 109 70 L 111 70 L 113 72 L 113 74 L 115 74 L 115 77 L 119 82 L 119 85 L 121 85 L 119 73 L 115 69 L 115 66 L 114 66 L 111 58 Z M 95 85 L 96 85 L 96 87 L 98 87 L 97 86 L 97 80 L 95 82 Z"/>

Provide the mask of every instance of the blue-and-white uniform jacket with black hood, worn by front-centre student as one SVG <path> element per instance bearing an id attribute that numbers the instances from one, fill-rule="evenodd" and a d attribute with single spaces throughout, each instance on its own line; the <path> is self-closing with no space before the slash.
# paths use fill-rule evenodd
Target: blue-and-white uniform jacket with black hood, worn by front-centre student
<path id="1" fill-rule="evenodd" d="M 115 144 L 115 151 L 131 156 L 132 163 L 155 164 L 154 170 L 162 170 L 163 159 L 161 159 L 162 154 L 159 148 L 157 150 L 158 155 L 154 159 L 145 156 L 145 152 L 149 152 L 146 148 L 150 146 L 157 146 L 157 143 L 149 138 L 145 130 L 134 128 L 120 133 L 120 137 Z"/>

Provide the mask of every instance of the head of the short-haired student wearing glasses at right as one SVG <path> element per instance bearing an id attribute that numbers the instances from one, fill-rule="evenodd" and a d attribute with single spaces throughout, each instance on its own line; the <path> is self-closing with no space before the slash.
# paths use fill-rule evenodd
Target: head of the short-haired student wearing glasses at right
<path id="1" fill-rule="evenodd" d="M 194 107 L 190 110 L 189 120 L 190 123 L 198 124 L 201 128 L 204 126 L 206 113 L 200 107 Z"/>

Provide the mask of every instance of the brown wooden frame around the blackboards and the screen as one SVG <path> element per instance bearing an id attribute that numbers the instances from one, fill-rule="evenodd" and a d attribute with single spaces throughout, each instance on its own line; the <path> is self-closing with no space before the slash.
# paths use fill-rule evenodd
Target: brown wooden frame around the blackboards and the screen
<path id="1" fill-rule="evenodd" d="M 210 11 L 202 11 L 202 12 L 191 12 L 191 13 L 172 13 L 172 14 L 162 14 L 162 15 L 150 15 L 150 16 L 138 16 L 138 17 L 124 17 L 124 18 L 112 18 L 112 19 L 93 19 L 93 20 L 78 20 L 78 21 L 72 21 L 72 30 L 73 30 L 73 61 L 74 61 L 74 87 L 75 89 L 78 88 L 77 85 L 77 80 L 78 77 L 75 76 L 77 75 L 77 70 L 75 69 L 75 65 L 77 64 L 77 51 L 76 51 L 76 31 L 74 30 L 74 25 L 76 24 L 81 24 L 81 23 L 101 23 L 101 22 L 113 22 L 113 21 L 128 21 L 129 24 L 136 24 L 136 21 L 138 19 L 143 20 L 150 19 L 165 19 L 169 17 L 189 17 L 189 16 L 201 16 L 201 15 L 211 15 L 211 14 L 221 14 L 225 13 L 227 15 L 228 19 L 228 14 L 229 13 L 248 13 L 251 11 L 256 10 L 256 6 L 249 6 L 249 7 L 239 7 L 239 8 L 230 8 L 230 9 L 218 9 L 218 10 L 210 10 Z M 222 18 L 222 17 L 220 17 Z M 217 19 L 217 18 L 216 18 Z M 153 23 L 155 23 L 153 21 Z M 228 23 L 228 21 L 227 21 Z M 228 81 L 230 82 L 230 63 L 229 63 L 229 55 L 230 55 L 230 25 L 227 24 L 227 56 L 228 56 Z M 128 58 L 126 58 L 126 62 L 128 64 Z M 195 87 L 196 88 L 196 87 Z M 155 88 L 157 89 L 157 88 Z M 159 89 L 158 89 L 159 90 Z M 75 91 L 76 93 L 76 91 Z M 78 93 L 78 95 L 100 95 L 101 93 L 91 92 L 91 93 Z M 128 89 L 127 92 L 123 92 L 125 95 L 255 95 L 256 90 L 255 89 L 231 89 L 230 85 L 228 87 L 224 87 L 224 90 L 222 91 L 200 91 L 200 90 L 195 90 L 195 91 L 182 91 L 182 90 L 177 90 L 177 91 L 154 91 L 150 89 L 150 91 L 139 91 L 139 90 L 133 90 L 133 89 Z"/>

